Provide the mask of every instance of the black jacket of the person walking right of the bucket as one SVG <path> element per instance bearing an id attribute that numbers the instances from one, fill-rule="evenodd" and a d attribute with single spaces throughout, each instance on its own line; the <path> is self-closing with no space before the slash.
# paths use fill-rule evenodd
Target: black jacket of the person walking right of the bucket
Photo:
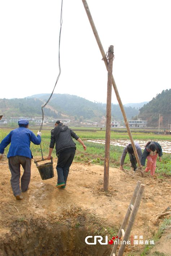
<path id="1" fill-rule="evenodd" d="M 61 132 L 57 137 L 55 136 L 55 131 L 55 129 L 51 131 L 51 143 L 49 148 L 54 148 L 54 144 L 56 144 L 56 155 L 64 149 L 76 149 L 76 144 L 74 143 L 72 137 L 75 138 L 75 140 L 78 140 L 79 137 L 75 134 L 75 132 L 73 132 L 66 125 L 62 126 Z"/>

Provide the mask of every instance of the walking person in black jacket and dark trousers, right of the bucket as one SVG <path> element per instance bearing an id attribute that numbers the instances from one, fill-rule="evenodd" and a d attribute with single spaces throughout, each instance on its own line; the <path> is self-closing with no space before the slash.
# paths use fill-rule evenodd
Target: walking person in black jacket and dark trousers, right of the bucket
<path id="1" fill-rule="evenodd" d="M 76 144 L 72 137 L 80 142 L 83 145 L 83 149 L 86 150 L 83 141 L 69 127 L 63 125 L 60 120 L 56 121 L 54 129 L 51 131 L 48 160 L 51 159 L 52 150 L 54 144 L 56 144 L 56 155 L 58 157 L 56 166 L 58 181 L 56 187 L 58 188 L 65 188 L 69 169 L 74 159 Z"/>

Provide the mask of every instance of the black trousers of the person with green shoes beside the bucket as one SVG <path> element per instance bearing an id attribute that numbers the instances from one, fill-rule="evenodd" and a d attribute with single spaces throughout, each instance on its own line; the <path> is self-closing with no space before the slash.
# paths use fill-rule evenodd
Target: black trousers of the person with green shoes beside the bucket
<path id="1" fill-rule="evenodd" d="M 75 148 L 65 149 L 58 155 L 58 162 L 56 166 L 58 174 L 58 183 L 67 181 L 71 163 L 73 162 L 75 155 Z"/>

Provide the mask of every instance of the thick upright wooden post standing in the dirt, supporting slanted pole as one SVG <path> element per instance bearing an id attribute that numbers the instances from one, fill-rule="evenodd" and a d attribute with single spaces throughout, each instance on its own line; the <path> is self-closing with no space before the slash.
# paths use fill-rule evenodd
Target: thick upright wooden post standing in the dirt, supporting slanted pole
<path id="1" fill-rule="evenodd" d="M 110 160 L 110 127 L 111 127 L 111 85 L 113 70 L 113 45 L 109 47 L 108 57 L 108 85 L 107 85 L 107 103 L 106 103 L 106 138 L 105 138 L 105 161 L 104 161 L 104 191 L 109 187 L 109 160 Z"/>

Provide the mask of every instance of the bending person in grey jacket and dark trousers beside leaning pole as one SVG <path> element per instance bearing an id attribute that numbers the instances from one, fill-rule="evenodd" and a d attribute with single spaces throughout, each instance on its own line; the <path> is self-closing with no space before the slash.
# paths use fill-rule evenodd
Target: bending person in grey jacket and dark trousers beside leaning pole
<path id="1" fill-rule="evenodd" d="M 135 142 L 135 147 L 136 147 L 136 150 L 137 150 L 137 153 L 138 153 L 138 156 L 139 156 L 139 159 L 140 159 L 140 162 L 141 162 L 141 158 L 142 158 L 142 150 L 140 148 L 140 145 L 138 142 Z M 133 152 L 133 148 L 132 148 L 132 145 L 131 144 L 128 144 L 124 150 L 123 150 L 123 153 L 122 153 L 122 157 L 120 159 L 120 170 L 123 171 L 123 164 L 124 164 L 124 160 L 125 160 L 125 157 L 126 157 L 126 154 L 129 153 L 129 157 L 130 157 L 130 162 L 131 162 L 131 168 L 133 169 L 134 172 L 136 172 L 137 170 L 137 161 L 136 161 L 136 157 L 135 157 L 135 154 Z"/>

